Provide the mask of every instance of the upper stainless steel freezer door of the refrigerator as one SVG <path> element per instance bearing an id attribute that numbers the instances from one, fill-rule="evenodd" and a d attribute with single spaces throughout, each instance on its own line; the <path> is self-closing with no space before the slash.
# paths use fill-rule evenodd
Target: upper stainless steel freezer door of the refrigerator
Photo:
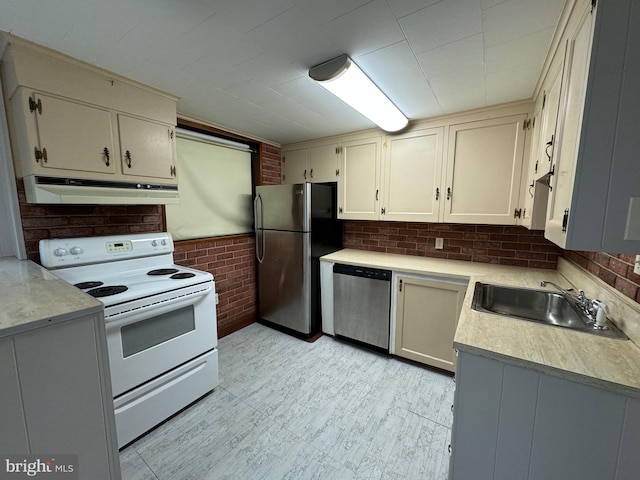
<path id="1" fill-rule="evenodd" d="M 311 229 L 311 184 L 256 187 L 256 230 L 308 232 Z"/>

